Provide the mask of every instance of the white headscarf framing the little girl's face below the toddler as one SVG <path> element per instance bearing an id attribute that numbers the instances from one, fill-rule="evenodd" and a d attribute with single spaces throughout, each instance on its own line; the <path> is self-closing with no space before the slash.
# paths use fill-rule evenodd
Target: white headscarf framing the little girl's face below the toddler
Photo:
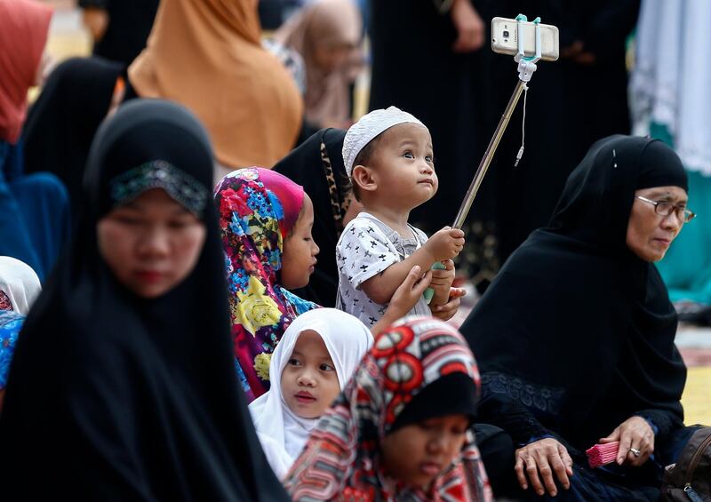
<path id="1" fill-rule="evenodd" d="M 353 315 L 335 308 L 309 310 L 294 319 L 284 331 L 269 364 L 269 391 L 250 404 L 262 448 L 280 479 L 289 472 L 318 421 L 318 418 L 297 417 L 289 410 L 282 395 L 282 371 L 292 356 L 299 335 L 307 330 L 316 331 L 324 340 L 341 389 L 372 346 L 371 331 Z"/>

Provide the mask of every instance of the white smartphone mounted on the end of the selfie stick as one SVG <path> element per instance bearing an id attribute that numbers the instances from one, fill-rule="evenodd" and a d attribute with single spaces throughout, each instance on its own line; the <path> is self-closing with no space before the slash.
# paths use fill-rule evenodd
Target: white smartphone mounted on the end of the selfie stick
<path id="1" fill-rule="evenodd" d="M 514 56 L 518 52 L 518 37 L 523 36 L 523 55 L 536 54 L 536 25 L 532 22 L 522 22 L 521 31 L 518 32 L 519 23 L 507 18 L 494 18 L 491 20 L 491 50 L 499 54 Z M 559 54 L 558 28 L 550 24 L 540 24 L 540 59 L 555 61 Z"/>

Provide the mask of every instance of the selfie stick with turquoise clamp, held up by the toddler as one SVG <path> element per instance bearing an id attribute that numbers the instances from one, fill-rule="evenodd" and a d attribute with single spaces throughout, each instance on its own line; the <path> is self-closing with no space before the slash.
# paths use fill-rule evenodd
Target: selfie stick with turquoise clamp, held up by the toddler
<path id="1" fill-rule="evenodd" d="M 482 185 L 483 177 L 486 176 L 486 171 L 489 170 L 489 164 L 491 164 L 491 159 L 493 158 L 494 153 L 496 152 L 496 148 L 499 147 L 499 141 L 504 135 L 504 131 L 506 131 L 508 121 L 511 119 L 516 105 L 518 104 L 518 100 L 521 98 L 521 93 L 523 91 L 528 90 L 526 84 L 531 80 L 533 72 L 536 71 L 536 63 L 540 60 L 540 18 L 536 18 L 535 20 L 533 20 L 533 24 L 535 25 L 536 52 L 535 55 L 528 57 L 524 56 L 522 29 L 522 23 L 527 22 L 528 19 L 523 14 L 518 14 L 515 20 L 517 24 L 518 52 L 516 52 L 514 60 L 518 63 L 518 82 L 516 83 L 514 93 L 508 100 L 508 104 L 506 106 L 506 109 L 504 110 L 504 115 L 501 116 L 499 124 L 496 126 L 496 131 L 494 131 L 494 135 L 491 138 L 491 141 L 489 141 L 489 146 L 486 147 L 486 151 L 483 154 L 482 161 L 479 163 L 479 167 L 476 169 L 474 179 L 472 179 L 471 185 L 469 185 L 469 189 L 467 190 L 467 195 L 464 197 L 464 201 L 462 201 L 461 205 L 459 206 L 459 212 L 457 212 L 457 217 L 454 219 L 454 223 L 451 226 L 452 228 L 461 228 L 462 225 L 464 225 L 464 221 L 467 219 L 467 215 L 469 214 L 469 210 L 472 207 L 472 203 L 474 203 L 476 193 L 479 191 L 479 187 L 481 187 Z M 518 151 L 518 155 L 516 155 L 516 163 L 521 160 L 522 155 L 523 145 Z M 432 266 L 433 270 L 442 270 L 443 268 L 443 264 L 439 261 Z M 435 291 L 432 288 L 427 288 L 427 290 L 425 290 L 424 297 L 427 300 L 427 303 L 432 300 L 434 294 Z"/>

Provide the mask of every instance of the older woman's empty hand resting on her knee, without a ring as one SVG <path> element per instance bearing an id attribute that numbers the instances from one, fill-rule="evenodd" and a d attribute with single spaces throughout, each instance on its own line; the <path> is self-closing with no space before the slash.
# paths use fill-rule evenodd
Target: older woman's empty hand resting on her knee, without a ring
<path id="1" fill-rule="evenodd" d="M 523 490 L 528 489 L 526 475 L 539 497 L 546 491 L 551 497 L 557 495 L 554 475 L 565 490 L 571 487 L 572 459 L 563 444 L 555 439 L 549 437 L 531 442 L 516 450 L 515 458 L 516 477 Z"/>

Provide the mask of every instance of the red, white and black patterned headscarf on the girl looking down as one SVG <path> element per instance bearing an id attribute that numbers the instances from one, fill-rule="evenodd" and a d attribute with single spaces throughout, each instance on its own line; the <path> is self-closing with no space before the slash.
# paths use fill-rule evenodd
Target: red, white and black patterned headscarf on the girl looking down
<path id="1" fill-rule="evenodd" d="M 284 479 L 293 500 L 491 500 L 474 433 L 430 492 L 386 482 L 380 444 L 427 386 L 461 373 L 479 387 L 467 342 L 449 324 L 411 317 L 379 334 Z M 451 402 L 458 395 L 449 396 Z"/>

